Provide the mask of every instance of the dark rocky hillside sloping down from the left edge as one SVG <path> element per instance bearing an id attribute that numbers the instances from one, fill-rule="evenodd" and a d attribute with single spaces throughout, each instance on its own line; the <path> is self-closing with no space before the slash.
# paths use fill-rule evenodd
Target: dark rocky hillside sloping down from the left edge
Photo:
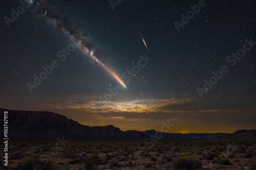
<path id="1" fill-rule="evenodd" d="M 138 131 L 123 132 L 112 125 L 84 126 L 67 117 L 44 111 L 18 111 L 0 109 L 0 119 L 8 111 L 10 140 L 143 140 L 146 135 Z"/>

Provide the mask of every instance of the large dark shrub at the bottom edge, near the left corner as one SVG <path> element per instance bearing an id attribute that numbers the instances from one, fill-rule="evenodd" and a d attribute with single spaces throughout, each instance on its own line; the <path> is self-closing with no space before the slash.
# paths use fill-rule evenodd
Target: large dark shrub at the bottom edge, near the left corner
<path id="1" fill-rule="evenodd" d="M 54 169 L 52 162 L 47 158 L 40 158 L 39 155 L 31 155 L 25 158 L 22 163 L 18 165 L 18 169 L 27 170 L 27 169 Z"/>

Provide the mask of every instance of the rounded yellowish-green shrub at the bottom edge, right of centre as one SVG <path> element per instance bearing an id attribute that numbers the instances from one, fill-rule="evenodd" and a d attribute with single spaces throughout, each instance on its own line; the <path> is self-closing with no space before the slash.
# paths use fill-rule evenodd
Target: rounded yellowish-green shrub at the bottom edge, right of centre
<path id="1" fill-rule="evenodd" d="M 197 169 L 200 167 L 200 160 L 193 155 L 179 156 L 174 162 L 175 166 L 180 169 Z"/>

